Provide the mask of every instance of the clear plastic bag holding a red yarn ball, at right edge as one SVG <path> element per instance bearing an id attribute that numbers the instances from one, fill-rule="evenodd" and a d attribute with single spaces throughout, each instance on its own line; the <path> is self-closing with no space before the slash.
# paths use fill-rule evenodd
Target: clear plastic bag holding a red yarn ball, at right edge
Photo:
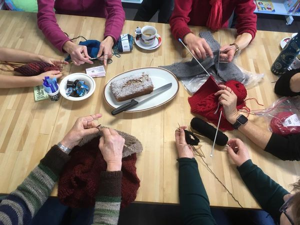
<path id="1" fill-rule="evenodd" d="M 273 133 L 288 135 L 300 133 L 300 96 L 280 97 L 256 115 L 263 116 Z"/>

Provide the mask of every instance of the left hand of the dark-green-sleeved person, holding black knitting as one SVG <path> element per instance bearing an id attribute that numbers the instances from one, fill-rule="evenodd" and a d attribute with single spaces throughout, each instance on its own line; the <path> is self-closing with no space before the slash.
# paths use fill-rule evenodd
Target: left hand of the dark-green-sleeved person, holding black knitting
<path id="1" fill-rule="evenodd" d="M 187 126 L 180 126 L 175 130 L 175 143 L 179 158 L 193 158 L 191 146 L 186 143 L 184 130 Z"/>

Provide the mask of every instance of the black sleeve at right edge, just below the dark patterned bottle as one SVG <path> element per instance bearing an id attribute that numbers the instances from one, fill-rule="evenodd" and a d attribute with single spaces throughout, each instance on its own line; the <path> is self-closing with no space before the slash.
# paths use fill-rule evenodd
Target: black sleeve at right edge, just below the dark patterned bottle
<path id="1" fill-rule="evenodd" d="M 297 72 L 300 72 L 300 68 L 289 70 L 283 75 L 281 75 L 275 84 L 275 88 L 274 88 L 275 93 L 282 96 L 300 95 L 300 92 L 293 92 L 289 88 L 289 80 Z"/>

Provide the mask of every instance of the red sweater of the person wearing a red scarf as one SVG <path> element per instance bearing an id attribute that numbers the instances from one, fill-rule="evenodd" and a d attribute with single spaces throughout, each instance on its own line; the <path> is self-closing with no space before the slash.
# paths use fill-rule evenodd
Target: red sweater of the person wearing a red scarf
<path id="1" fill-rule="evenodd" d="M 236 14 L 237 35 L 247 32 L 256 33 L 256 14 L 253 0 L 222 0 L 222 27 L 228 27 L 228 19 L 233 10 Z M 205 26 L 211 5 L 209 0 L 175 0 L 173 13 L 169 23 L 173 36 L 183 38 L 190 31 L 188 25 Z"/>

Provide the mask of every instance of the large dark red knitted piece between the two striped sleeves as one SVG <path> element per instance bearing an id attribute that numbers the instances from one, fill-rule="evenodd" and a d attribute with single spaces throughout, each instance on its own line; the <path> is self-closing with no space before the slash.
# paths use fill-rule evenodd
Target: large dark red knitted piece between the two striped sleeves
<path id="1" fill-rule="evenodd" d="M 106 170 L 106 162 L 98 147 L 99 137 L 83 146 L 75 146 L 70 160 L 64 166 L 58 182 L 58 198 L 70 207 L 94 206 L 98 191 L 100 171 Z M 134 201 L 139 187 L 136 175 L 136 153 L 122 158 L 121 208 Z"/>

